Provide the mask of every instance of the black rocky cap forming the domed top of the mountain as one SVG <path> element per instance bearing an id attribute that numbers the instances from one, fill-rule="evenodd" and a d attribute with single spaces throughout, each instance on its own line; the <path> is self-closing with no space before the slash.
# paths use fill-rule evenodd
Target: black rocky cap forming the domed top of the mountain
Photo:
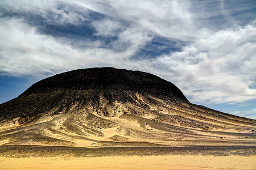
<path id="1" fill-rule="evenodd" d="M 133 91 L 148 95 L 176 97 L 188 101 L 179 88 L 158 76 L 142 71 L 114 69 L 113 67 L 96 67 L 57 74 L 35 83 L 20 96 L 48 91 L 89 89 Z"/>

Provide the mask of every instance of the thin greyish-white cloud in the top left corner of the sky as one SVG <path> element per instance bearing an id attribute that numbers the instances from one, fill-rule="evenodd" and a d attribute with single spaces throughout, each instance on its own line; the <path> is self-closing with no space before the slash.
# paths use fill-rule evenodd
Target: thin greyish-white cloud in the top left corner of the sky
<path id="1" fill-rule="evenodd" d="M 60 7 L 61 6 L 61 7 Z M 60 1 L 28 1 L 28 0 L 3 0 L 0 7 L 7 12 L 19 15 L 38 15 L 49 24 L 80 24 L 87 19 L 87 9 L 76 7 L 76 10 L 68 3 Z M 1 14 L 1 11 L 0 11 Z"/>

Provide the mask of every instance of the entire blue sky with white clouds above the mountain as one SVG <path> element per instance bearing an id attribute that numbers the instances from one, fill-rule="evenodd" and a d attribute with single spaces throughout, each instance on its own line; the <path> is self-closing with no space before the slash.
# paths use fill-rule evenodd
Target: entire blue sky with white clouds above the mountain
<path id="1" fill-rule="evenodd" d="M 256 119 L 255 16 L 255 0 L 1 0 L 0 103 L 48 76 L 111 66 Z"/>

